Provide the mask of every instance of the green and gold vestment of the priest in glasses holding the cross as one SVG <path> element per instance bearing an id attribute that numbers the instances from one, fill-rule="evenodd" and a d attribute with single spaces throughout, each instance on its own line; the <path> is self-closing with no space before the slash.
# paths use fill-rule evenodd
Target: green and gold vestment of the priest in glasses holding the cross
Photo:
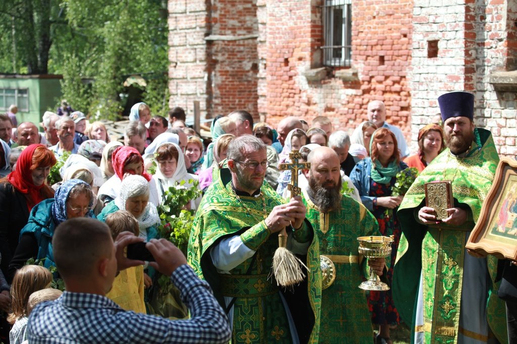
<path id="1" fill-rule="evenodd" d="M 291 343 L 290 326 L 280 288 L 275 278 L 269 276 L 272 257 L 278 248 L 278 234 L 271 233 L 264 222 L 273 207 L 282 204 L 283 199 L 267 183 L 261 188 L 265 205 L 262 197 L 239 196 L 237 199 L 232 190 L 230 171 L 222 168 L 218 177 L 209 186 L 196 213 L 189 240 L 188 262 L 197 275 L 210 284 L 224 309 L 224 297 L 236 298 L 233 307 L 233 342 Z M 308 225 L 304 225 L 304 228 L 306 232 L 309 231 Z M 236 235 L 256 253 L 253 258 L 232 269 L 230 274 L 218 273 L 210 249 L 220 240 Z M 311 343 L 317 343 L 320 324 L 321 271 L 317 250 L 317 238 L 312 238 L 305 262 L 309 269 L 306 271 L 308 288 L 304 291 L 309 295 L 310 303 L 306 307 L 307 316 L 314 318 L 309 340 Z"/>

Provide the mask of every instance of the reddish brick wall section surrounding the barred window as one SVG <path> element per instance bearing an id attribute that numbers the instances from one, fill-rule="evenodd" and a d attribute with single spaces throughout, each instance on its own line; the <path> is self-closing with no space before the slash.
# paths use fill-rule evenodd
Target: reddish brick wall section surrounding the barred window
<path id="1" fill-rule="evenodd" d="M 274 5 L 273 5 L 274 3 Z M 352 2 L 352 67 L 358 81 L 343 82 L 336 69 L 318 82 L 308 82 L 303 71 L 321 67 L 323 1 L 267 1 L 266 101 L 259 109 L 267 121 L 288 115 L 331 118 L 336 129 L 353 130 L 367 118 L 371 100 L 383 100 L 388 122 L 408 133 L 412 6 L 410 0 Z M 274 6 L 274 7 L 273 7 Z M 384 65 L 379 65 L 384 56 Z M 409 137 L 409 135 L 407 135 Z"/>

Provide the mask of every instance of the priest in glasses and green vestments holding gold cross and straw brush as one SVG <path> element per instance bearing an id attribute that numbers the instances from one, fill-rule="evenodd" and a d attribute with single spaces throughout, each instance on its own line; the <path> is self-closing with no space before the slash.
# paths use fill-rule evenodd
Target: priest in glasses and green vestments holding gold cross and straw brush
<path id="1" fill-rule="evenodd" d="M 196 213 L 188 261 L 205 279 L 233 325 L 233 342 L 317 343 L 321 272 L 317 238 L 305 221 L 301 197 L 284 200 L 264 183 L 268 167 L 261 139 L 242 135 L 227 151 Z M 278 233 L 307 265 L 306 288 L 287 295 L 272 276 Z M 300 300 L 303 300 L 300 302 Z M 295 301 L 295 302 L 289 302 Z M 297 302 L 296 302 L 297 301 Z M 296 326 L 295 319 L 303 319 Z"/>

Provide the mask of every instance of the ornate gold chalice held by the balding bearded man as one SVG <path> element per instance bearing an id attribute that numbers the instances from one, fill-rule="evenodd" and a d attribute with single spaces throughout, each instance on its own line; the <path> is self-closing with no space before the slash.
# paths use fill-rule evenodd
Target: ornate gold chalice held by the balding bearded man
<path id="1" fill-rule="evenodd" d="M 359 237 L 359 254 L 366 258 L 386 258 L 391 255 L 393 237 L 369 236 Z M 359 285 L 364 290 L 389 290 L 386 283 L 381 282 L 379 276 L 370 268 L 370 277 Z"/>

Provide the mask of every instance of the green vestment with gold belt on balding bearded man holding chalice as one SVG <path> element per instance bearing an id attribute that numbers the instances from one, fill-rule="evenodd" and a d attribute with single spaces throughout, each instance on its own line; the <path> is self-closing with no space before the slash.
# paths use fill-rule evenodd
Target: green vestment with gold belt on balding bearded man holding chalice
<path id="1" fill-rule="evenodd" d="M 320 254 L 336 265 L 336 279 L 322 290 L 320 343 L 370 344 L 373 329 L 364 291 L 358 237 L 378 236 L 377 220 L 362 204 L 348 196 L 341 208 L 322 213 L 303 192 L 307 220 L 320 242 Z"/>

